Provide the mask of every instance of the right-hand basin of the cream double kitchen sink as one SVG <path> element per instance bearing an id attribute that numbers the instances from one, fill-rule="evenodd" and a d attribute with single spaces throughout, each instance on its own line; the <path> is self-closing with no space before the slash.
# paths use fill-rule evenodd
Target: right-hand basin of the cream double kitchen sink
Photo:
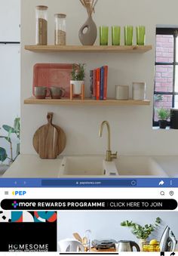
<path id="1" fill-rule="evenodd" d="M 168 177 L 151 156 L 118 156 L 115 165 L 121 176 Z"/>

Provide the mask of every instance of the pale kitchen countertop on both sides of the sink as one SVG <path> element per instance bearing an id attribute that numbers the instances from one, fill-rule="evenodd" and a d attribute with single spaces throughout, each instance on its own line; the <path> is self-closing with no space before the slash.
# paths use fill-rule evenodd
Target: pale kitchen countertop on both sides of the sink
<path id="1" fill-rule="evenodd" d="M 178 177 L 178 156 L 152 157 L 169 177 Z M 62 157 L 49 160 L 38 155 L 20 155 L 2 177 L 58 177 L 61 161 Z"/>

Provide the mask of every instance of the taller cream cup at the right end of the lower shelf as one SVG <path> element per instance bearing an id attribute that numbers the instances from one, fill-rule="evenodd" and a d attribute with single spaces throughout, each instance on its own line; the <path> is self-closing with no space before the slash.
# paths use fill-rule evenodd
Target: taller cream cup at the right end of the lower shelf
<path id="1" fill-rule="evenodd" d="M 146 99 L 146 83 L 145 82 L 132 83 L 132 98 L 133 100 Z"/>

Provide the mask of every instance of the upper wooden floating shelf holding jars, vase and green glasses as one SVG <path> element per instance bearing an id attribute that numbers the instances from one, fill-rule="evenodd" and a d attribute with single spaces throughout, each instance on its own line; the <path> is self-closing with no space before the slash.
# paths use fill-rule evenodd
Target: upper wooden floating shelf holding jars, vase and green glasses
<path id="1" fill-rule="evenodd" d="M 110 53 L 145 53 L 146 51 L 152 50 L 152 45 L 25 45 L 25 49 L 34 52 L 110 52 Z"/>

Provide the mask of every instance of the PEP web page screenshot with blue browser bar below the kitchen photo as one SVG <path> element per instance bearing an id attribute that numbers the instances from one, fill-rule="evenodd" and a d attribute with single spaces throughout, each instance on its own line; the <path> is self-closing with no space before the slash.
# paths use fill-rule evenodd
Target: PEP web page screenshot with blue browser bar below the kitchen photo
<path id="1" fill-rule="evenodd" d="M 1 254 L 176 254 L 178 180 L 112 182 L 1 181 Z"/>

